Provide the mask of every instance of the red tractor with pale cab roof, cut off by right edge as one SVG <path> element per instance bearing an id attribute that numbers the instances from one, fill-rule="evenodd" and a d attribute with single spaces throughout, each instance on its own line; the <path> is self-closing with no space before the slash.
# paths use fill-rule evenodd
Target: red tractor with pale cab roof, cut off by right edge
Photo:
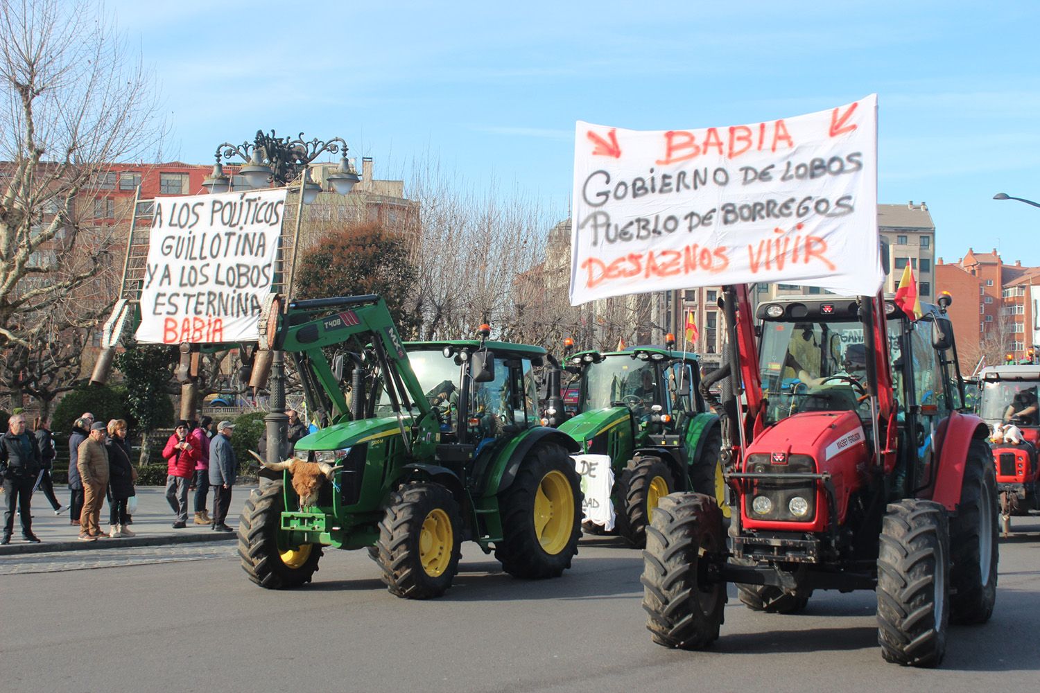
<path id="1" fill-rule="evenodd" d="M 993 428 L 993 462 L 1000 499 L 1004 534 L 1012 515 L 1040 511 L 1040 366 L 991 366 L 979 373 L 979 416 Z M 1010 439 L 999 427 L 1018 428 L 1021 439 Z"/>

